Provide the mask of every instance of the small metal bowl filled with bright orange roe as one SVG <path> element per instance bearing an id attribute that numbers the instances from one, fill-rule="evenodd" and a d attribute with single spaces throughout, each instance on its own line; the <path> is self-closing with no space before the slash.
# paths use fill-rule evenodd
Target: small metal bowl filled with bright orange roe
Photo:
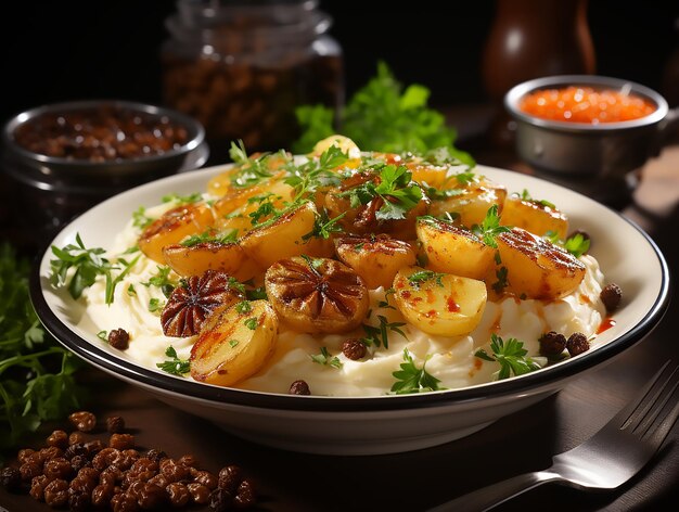
<path id="1" fill-rule="evenodd" d="M 597 75 L 536 78 L 513 87 L 504 106 L 516 152 L 536 169 L 576 179 L 628 181 L 662 146 L 679 112 L 645 86 Z"/>

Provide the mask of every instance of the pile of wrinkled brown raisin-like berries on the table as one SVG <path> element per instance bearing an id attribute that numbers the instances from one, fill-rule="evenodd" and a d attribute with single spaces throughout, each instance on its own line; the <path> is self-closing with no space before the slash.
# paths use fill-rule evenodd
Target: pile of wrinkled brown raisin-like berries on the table
<path id="1" fill-rule="evenodd" d="M 2 469 L 0 483 L 10 492 L 27 492 L 52 508 L 74 512 L 192 504 L 221 512 L 257 502 L 254 483 L 239 465 L 215 474 L 201 470 L 191 455 L 172 459 L 159 449 L 140 451 L 120 417 L 106 419 L 107 444 L 87 440 L 86 433 L 98 424 L 91 412 L 74 412 L 68 420 L 75 427 L 71 434 L 52 432 L 44 447 L 18 450 L 17 464 Z"/>

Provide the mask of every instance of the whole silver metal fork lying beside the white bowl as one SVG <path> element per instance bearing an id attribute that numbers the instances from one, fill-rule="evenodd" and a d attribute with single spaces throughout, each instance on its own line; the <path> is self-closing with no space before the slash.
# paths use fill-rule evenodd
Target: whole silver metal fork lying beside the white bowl
<path id="1" fill-rule="evenodd" d="M 474 490 L 430 512 L 482 511 L 548 482 L 578 489 L 614 489 L 658 450 L 679 417 L 679 367 L 667 361 L 639 395 L 592 437 L 552 459 L 545 471 L 525 473 Z"/>

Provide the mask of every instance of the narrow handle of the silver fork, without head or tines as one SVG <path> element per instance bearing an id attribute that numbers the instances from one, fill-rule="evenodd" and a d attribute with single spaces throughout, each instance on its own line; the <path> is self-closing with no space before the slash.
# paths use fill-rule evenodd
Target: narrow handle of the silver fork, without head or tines
<path id="1" fill-rule="evenodd" d="M 441 503 L 428 512 L 482 511 L 491 509 L 515 496 L 547 482 L 562 479 L 556 473 L 536 471 L 473 490 L 453 500 Z"/>

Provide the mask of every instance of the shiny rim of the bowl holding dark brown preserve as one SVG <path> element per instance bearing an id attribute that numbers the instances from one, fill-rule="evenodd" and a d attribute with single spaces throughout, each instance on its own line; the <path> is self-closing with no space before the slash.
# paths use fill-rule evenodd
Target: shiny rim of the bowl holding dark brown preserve
<path id="1" fill-rule="evenodd" d="M 195 150 L 203 141 L 205 140 L 205 129 L 203 126 L 193 117 L 182 114 L 181 112 L 175 111 L 172 108 L 168 108 L 159 105 L 152 105 L 149 103 L 139 103 L 134 101 L 127 100 L 111 100 L 111 99 L 100 99 L 100 100 L 79 100 L 79 101 L 67 101 L 61 103 L 49 103 L 46 105 L 36 106 L 34 108 L 29 108 L 27 111 L 21 112 L 16 114 L 14 117 L 10 118 L 2 130 L 2 139 L 4 146 L 8 151 L 13 152 L 17 156 L 22 157 L 25 161 L 29 162 L 39 162 L 46 165 L 61 165 L 61 166 L 71 166 L 71 167 L 91 167 L 93 164 L 90 161 L 85 159 L 76 159 L 76 158 L 63 158 L 59 156 L 49 156 L 40 153 L 34 153 L 22 145 L 20 145 L 14 139 L 14 131 L 21 125 L 35 119 L 43 114 L 50 113 L 59 113 L 59 112 L 74 112 L 74 111 L 82 111 L 94 107 L 114 107 L 120 110 L 128 110 L 131 112 L 144 113 L 151 116 L 156 117 L 168 117 L 172 123 L 177 125 L 181 125 L 181 127 L 185 128 L 189 132 L 189 140 L 182 144 L 180 148 L 172 149 L 166 151 L 163 154 L 153 154 L 149 156 L 140 156 L 134 158 L 125 158 L 120 162 L 126 163 L 154 163 L 159 161 L 165 161 L 170 157 L 185 155 L 187 153 Z M 115 164 L 118 161 L 106 161 L 102 162 L 101 165 L 106 164 Z"/>

